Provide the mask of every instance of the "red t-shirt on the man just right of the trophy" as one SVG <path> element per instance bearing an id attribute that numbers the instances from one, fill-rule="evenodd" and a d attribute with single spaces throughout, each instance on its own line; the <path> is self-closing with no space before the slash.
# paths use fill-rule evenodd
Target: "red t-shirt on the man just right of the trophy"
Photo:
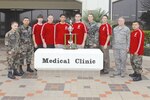
<path id="1" fill-rule="evenodd" d="M 74 23 L 72 33 L 76 34 L 76 42 L 78 45 L 81 45 L 83 43 L 84 35 L 87 33 L 87 27 L 82 22 Z"/>

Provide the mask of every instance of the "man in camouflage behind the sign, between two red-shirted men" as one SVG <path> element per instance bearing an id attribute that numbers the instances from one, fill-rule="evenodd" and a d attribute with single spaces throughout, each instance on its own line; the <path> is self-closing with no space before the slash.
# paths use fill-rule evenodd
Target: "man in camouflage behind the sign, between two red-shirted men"
<path id="1" fill-rule="evenodd" d="M 96 48 L 98 46 L 98 25 L 94 21 L 93 14 L 88 15 L 88 35 L 86 40 L 86 48 Z"/>

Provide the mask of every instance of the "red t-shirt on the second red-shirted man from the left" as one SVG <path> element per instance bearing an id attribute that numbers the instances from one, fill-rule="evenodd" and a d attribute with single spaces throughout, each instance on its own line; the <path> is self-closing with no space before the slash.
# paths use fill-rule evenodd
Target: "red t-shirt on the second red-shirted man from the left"
<path id="1" fill-rule="evenodd" d="M 42 27 L 41 34 L 47 45 L 54 45 L 54 24 L 45 23 Z"/>

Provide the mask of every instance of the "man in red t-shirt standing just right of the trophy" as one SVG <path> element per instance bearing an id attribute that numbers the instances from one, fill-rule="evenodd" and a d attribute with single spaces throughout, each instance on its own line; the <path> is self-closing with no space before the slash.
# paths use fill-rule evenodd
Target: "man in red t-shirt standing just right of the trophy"
<path id="1" fill-rule="evenodd" d="M 78 48 L 84 48 L 85 40 L 87 37 L 87 28 L 84 23 L 81 22 L 81 14 L 75 14 L 75 23 L 73 24 L 73 34 L 76 34 L 76 42 Z"/>

